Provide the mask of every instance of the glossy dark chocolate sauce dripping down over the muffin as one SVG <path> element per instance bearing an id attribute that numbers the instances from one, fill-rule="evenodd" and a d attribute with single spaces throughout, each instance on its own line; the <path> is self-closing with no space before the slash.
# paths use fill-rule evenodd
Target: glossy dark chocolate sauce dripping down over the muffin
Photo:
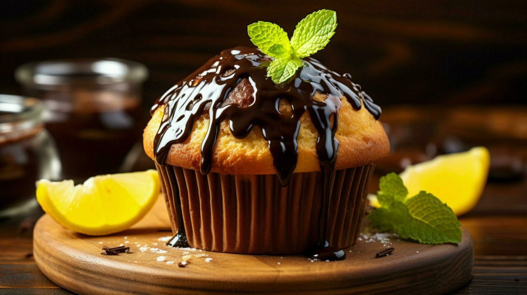
<path id="1" fill-rule="evenodd" d="M 297 164 L 300 116 L 308 111 L 318 131 L 316 151 L 324 179 L 318 244 L 310 255 L 321 260 L 345 259 L 346 253 L 343 250 L 328 243 L 326 231 L 329 197 L 335 178 L 338 148 L 335 132 L 338 127 L 340 97 L 346 97 L 356 110 L 364 104 L 376 119 L 381 113 L 380 107 L 360 89 L 360 85 L 350 80 L 349 74 L 341 76 L 311 57 L 304 58 L 304 66 L 289 81 L 276 85 L 267 77 L 266 67 L 271 61 L 270 57 L 255 48 L 235 47 L 222 51 L 174 85 L 152 107 L 153 113 L 158 106 L 165 106 L 163 120 L 154 139 L 154 159 L 158 165 L 163 166 L 170 146 L 186 140 L 194 120 L 203 113 L 208 113 L 208 131 L 201 144 L 202 174 L 209 173 L 211 169 L 212 150 L 220 123 L 228 120 L 230 131 L 237 138 L 247 136 L 255 125 L 260 127 L 269 144 L 276 175 L 280 183 L 286 186 Z M 229 93 L 243 79 L 248 80 L 252 86 L 252 92 L 246 93 L 251 102 L 241 106 L 225 104 Z M 313 96 L 317 92 L 327 94 L 327 99 L 324 102 L 314 100 Z M 291 105 L 291 116 L 280 113 L 278 105 L 281 99 L 287 100 Z M 177 183 L 171 185 L 177 186 Z M 173 191 L 179 190 L 174 188 Z M 178 199 L 174 200 L 174 204 L 180 207 L 179 198 L 174 199 Z M 169 244 L 188 247 L 181 208 L 176 208 L 175 211 L 179 214 L 176 217 L 178 232 Z"/>

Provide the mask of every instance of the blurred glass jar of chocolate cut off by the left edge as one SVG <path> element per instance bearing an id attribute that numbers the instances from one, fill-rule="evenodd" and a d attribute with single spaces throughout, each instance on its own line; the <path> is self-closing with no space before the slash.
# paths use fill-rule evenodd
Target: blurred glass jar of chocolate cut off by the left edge
<path id="1" fill-rule="evenodd" d="M 43 107 L 37 99 L 0 95 L 0 217 L 31 210 L 35 181 L 60 176 L 56 146 L 43 126 Z"/>

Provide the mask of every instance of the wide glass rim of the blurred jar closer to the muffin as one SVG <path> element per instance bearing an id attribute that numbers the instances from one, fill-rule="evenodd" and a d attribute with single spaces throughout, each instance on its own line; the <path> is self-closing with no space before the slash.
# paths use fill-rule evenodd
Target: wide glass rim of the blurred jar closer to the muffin
<path id="1" fill-rule="evenodd" d="M 120 58 L 69 59 L 27 63 L 15 70 L 22 85 L 46 87 L 70 84 L 142 83 L 148 69 L 138 62 Z"/>

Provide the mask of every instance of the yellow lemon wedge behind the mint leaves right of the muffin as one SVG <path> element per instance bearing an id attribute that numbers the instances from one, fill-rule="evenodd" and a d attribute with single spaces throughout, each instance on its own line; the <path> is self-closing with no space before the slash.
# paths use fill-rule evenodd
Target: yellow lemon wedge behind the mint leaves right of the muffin
<path id="1" fill-rule="evenodd" d="M 480 200 L 489 166 L 489 150 L 479 146 L 407 166 L 399 176 L 408 189 L 408 197 L 426 191 L 459 216 L 472 210 Z M 380 207 L 376 195 L 369 194 L 368 200 L 372 206 Z"/>

